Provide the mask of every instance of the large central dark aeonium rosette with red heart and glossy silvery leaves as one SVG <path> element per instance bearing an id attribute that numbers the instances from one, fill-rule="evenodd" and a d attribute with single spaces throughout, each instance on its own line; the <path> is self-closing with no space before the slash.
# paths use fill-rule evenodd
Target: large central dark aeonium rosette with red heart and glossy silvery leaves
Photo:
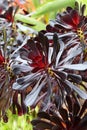
<path id="1" fill-rule="evenodd" d="M 40 32 L 37 37 L 27 40 L 18 51 L 26 63 L 13 65 L 14 73 L 19 75 L 13 89 L 24 91 L 27 106 L 34 107 L 42 101 L 41 108 L 47 110 L 56 101 L 57 107 L 60 107 L 66 95 L 72 91 L 77 93 L 77 98 L 79 95 L 87 99 L 86 90 L 80 89 L 81 85 L 84 89 L 86 86 L 78 74 L 87 69 L 87 62 L 73 63 L 82 53 L 82 47 L 66 49 L 64 41 L 56 33 L 50 46 L 48 38 Z"/>

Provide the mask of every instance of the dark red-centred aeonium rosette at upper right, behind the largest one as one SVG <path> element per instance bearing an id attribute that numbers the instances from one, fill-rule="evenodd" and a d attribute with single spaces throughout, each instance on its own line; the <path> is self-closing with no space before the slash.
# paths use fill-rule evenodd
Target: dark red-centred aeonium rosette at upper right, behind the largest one
<path id="1" fill-rule="evenodd" d="M 51 40 L 52 37 L 50 36 L 57 32 L 60 36 L 63 35 L 64 41 L 68 40 L 64 38 L 67 36 L 70 39 L 73 38 L 72 44 L 86 45 L 87 18 L 84 15 L 85 8 L 85 4 L 82 5 L 77 2 L 75 2 L 74 8 L 68 6 L 64 12 L 56 15 L 55 20 L 50 21 L 46 31 L 44 31 L 45 35 Z M 70 43 L 71 46 L 72 44 Z"/>

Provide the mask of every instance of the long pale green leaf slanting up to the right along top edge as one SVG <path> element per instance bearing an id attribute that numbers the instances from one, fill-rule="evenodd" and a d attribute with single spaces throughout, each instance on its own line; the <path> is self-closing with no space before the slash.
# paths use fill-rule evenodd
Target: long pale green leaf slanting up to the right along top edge
<path id="1" fill-rule="evenodd" d="M 49 13 L 49 12 L 53 12 L 55 10 L 59 10 L 62 8 L 65 8 L 67 6 L 71 6 L 74 7 L 75 4 L 75 0 L 54 0 L 54 1 L 50 1 L 47 2 L 46 4 L 42 5 L 41 7 L 39 7 L 33 14 L 33 17 L 38 17 L 40 15 Z"/>

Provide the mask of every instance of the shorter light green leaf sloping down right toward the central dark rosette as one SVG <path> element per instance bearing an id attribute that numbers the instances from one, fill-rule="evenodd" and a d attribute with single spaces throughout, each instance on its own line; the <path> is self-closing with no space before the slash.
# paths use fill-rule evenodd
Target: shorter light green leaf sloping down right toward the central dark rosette
<path id="1" fill-rule="evenodd" d="M 30 24 L 33 25 L 31 26 L 32 29 L 35 29 L 37 31 L 43 30 L 45 29 L 46 25 L 38 20 L 36 20 L 35 18 L 31 18 L 28 16 L 24 16 L 22 14 L 16 14 L 15 15 L 15 21 L 21 21 L 25 24 Z"/>

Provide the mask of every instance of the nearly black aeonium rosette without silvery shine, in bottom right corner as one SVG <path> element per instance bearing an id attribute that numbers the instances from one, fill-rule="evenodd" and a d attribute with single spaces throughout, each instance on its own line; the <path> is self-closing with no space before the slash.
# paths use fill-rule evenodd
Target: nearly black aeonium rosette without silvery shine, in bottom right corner
<path id="1" fill-rule="evenodd" d="M 80 105 L 71 95 L 66 96 L 59 110 L 39 112 L 32 124 L 33 130 L 87 130 L 87 100 Z"/>

